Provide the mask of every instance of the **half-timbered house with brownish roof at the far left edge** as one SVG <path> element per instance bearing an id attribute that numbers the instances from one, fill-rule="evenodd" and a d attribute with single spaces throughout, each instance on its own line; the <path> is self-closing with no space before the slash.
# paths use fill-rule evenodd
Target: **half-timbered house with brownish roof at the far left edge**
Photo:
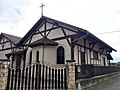
<path id="1" fill-rule="evenodd" d="M 16 50 L 17 43 L 21 40 L 20 37 L 13 36 L 6 33 L 0 34 L 0 59 L 7 59 L 7 53 Z"/>

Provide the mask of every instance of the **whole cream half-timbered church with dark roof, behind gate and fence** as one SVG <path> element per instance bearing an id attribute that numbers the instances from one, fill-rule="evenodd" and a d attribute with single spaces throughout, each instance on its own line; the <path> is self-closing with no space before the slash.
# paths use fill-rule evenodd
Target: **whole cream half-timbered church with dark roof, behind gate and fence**
<path id="1" fill-rule="evenodd" d="M 2 36 L 12 41 L 6 34 Z M 36 62 L 61 65 L 65 64 L 66 60 L 76 60 L 79 65 L 108 66 L 109 61 L 113 59 L 110 53 L 116 51 L 85 29 L 45 16 L 42 16 L 17 43 L 17 47 L 22 50 L 6 52 L 2 46 L 4 43 L 1 43 L 0 53 L 6 54 L 9 59 L 14 57 L 12 61 L 16 61 L 14 63 L 19 64 L 19 67 Z M 12 46 L 9 49 L 13 49 Z M 12 62 L 12 65 L 15 64 Z"/>

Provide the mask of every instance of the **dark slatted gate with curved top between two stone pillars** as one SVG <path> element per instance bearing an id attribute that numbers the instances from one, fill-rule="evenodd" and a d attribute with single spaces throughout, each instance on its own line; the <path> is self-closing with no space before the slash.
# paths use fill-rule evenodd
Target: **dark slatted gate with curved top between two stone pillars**
<path id="1" fill-rule="evenodd" d="M 24 68 L 9 68 L 6 90 L 66 90 L 66 67 L 36 63 Z"/>

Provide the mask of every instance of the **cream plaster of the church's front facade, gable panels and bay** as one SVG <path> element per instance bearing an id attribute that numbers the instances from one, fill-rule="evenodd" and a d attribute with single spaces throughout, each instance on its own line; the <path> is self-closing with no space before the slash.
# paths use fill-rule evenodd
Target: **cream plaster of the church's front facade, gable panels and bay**
<path id="1" fill-rule="evenodd" d="M 46 25 L 48 25 L 48 26 L 46 26 L 46 30 L 50 29 L 52 27 L 56 27 L 55 25 L 53 26 L 52 24 L 48 24 L 48 23 Z M 74 32 L 72 33 L 71 31 L 68 31 L 66 29 L 64 31 L 62 31 L 61 28 L 47 31 L 46 32 L 47 38 L 49 38 L 49 39 L 58 38 L 58 40 L 55 41 L 58 43 L 58 46 L 33 47 L 32 48 L 32 55 L 33 55 L 32 60 L 36 60 L 36 52 L 39 51 L 40 60 L 43 60 L 43 57 L 44 57 L 44 61 L 52 63 L 52 64 L 56 64 L 56 53 L 57 53 L 57 47 L 59 47 L 59 46 L 62 46 L 65 49 L 65 60 L 70 60 L 71 59 L 71 49 L 70 49 L 67 39 L 59 39 L 61 37 L 66 37 L 64 35 L 64 32 L 66 33 L 66 35 L 75 34 Z M 45 34 L 45 32 L 44 32 L 44 25 L 43 25 L 40 27 L 40 29 L 38 29 L 36 32 L 34 32 L 34 34 L 29 38 L 29 40 L 25 44 L 30 44 L 34 41 L 37 41 L 37 40 L 43 38 L 44 34 Z M 69 39 L 69 41 L 70 41 L 70 39 Z M 43 52 L 44 52 L 44 55 L 43 55 Z M 29 55 L 26 55 L 26 56 L 29 56 Z M 29 59 L 26 60 L 26 63 L 28 63 L 28 62 L 29 62 Z M 32 61 L 32 62 L 35 63 L 35 61 Z"/>

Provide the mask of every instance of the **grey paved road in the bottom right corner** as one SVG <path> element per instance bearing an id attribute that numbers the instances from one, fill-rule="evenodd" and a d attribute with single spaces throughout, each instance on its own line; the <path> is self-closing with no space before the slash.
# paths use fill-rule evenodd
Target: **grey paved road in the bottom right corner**
<path id="1" fill-rule="evenodd" d="M 84 90 L 120 90 L 120 75 Z"/>

